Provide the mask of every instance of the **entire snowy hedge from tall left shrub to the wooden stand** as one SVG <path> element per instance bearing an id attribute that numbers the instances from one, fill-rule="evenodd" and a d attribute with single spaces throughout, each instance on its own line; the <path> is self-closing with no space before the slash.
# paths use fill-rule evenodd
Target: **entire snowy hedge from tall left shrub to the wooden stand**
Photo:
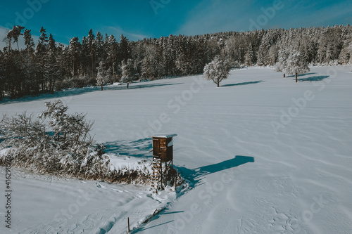
<path id="1" fill-rule="evenodd" d="M 61 100 L 45 103 L 39 117 L 26 112 L 0 122 L 0 164 L 11 159 L 13 167 L 40 173 L 99 179 L 108 182 L 148 183 L 151 162 L 137 169 L 115 169 L 104 146 L 94 144 L 92 122 L 82 114 L 69 115 Z"/>

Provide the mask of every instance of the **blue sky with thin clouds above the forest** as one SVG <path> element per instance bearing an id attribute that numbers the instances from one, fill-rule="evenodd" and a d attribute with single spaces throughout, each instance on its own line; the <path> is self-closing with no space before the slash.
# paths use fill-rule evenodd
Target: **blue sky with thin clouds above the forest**
<path id="1" fill-rule="evenodd" d="M 0 1 L 0 31 L 20 25 L 54 39 L 94 34 L 124 34 L 130 40 L 169 34 L 352 24 L 352 1 L 310 0 L 28 0 Z M 0 37 L 3 37 L 0 33 Z M 2 47 L 0 47 L 2 48 Z"/>

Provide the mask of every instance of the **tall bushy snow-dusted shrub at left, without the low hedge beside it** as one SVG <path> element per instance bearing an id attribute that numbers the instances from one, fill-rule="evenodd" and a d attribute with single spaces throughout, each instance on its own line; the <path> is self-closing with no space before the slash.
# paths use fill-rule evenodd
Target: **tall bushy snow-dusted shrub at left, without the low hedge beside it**
<path id="1" fill-rule="evenodd" d="M 23 112 L 1 121 L 4 141 L 0 147 L 8 148 L 6 155 L 15 166 L 70 174 L 77 172 L 77 162 L 103 157 L 103 145 L 94 145 L 89 134 L 93 123 L 87 122 L 85 115 L 68 115 L 61 100 L 45 105 L 46 110 L 36 119 Z"/>

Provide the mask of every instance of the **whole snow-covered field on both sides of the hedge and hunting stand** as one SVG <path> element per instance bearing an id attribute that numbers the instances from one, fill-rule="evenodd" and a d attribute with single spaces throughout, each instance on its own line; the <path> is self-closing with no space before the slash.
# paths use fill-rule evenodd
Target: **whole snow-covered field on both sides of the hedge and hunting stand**
<path id="1" fill-rule="evenodd" d="M 174 164 L 191 183 L 161 203 L 145 187 L 12 169 L 12 232 L 1 221 L 0 233 L 124 233 L 127 217 L 137 227 L 170 201 L 132 233 L 352 233 L 349 67 L 311 67 L 298 83 L 253 67 L 215 86 L 199 75 L 0 103 L 0 114 L 39 113 L 61 98 L 95 121 L 108 153 L 131 158 L 151 159 L 150 134 L 175 133 Z"/>

